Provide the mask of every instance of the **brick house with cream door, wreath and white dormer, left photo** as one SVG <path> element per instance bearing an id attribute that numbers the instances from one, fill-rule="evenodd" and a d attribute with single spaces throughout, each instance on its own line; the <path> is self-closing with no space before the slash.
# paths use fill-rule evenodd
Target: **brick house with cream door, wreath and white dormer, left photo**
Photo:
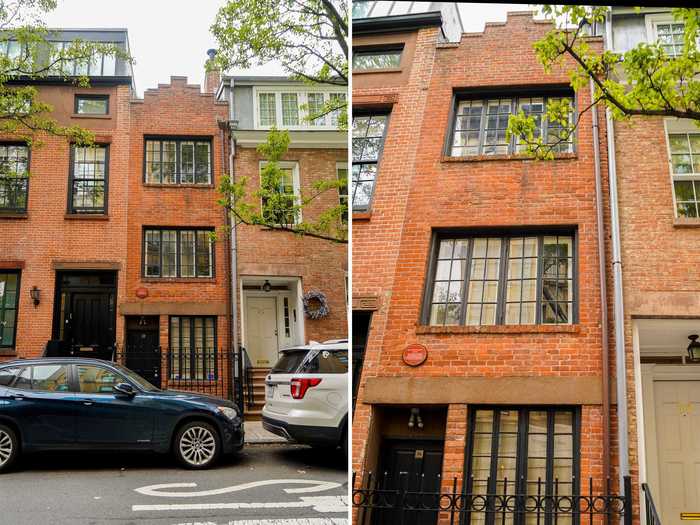
<path id="1" fill-rule="evenodd" d="M 344 99 L 343 86 L 310 86 L 279 76 L 226 76 L 218 92 L 231 119 L 230 175 L 248 180 L 252 196 L 260 185 L 265 159 L 257 146 L 273 128 L 287 130 L 290 145 L 280 166 L 288 174 L 284 189 L 294 198 L 313 193 L 317 180 L 347 178 L 347 132 L 338 116 L 309 121 L 331 98 Z M 346 199 L 327 191 L 305 206 L 305 219 Z M 264 404 L 264 379 L 280 349 L 308 341 L 345 339 L 348 335 L 347 244 L 301 237 L 290 232 L 241 224 L 236 228 L 235 290 L 240 344 L 246 349 L 253 377 L 254 403 L 249 416 Z M 328 315 L 311 319 L 304 310 L 310 292 L 325 296 Z"/>

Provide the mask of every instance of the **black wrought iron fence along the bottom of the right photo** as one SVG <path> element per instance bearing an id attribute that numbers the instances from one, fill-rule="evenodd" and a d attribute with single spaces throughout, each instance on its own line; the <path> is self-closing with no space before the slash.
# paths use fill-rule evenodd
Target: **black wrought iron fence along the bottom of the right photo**
<path id="1" fill-rule="evenodd" d="M 397 478 L 370 472 L 357 487 L 353 473 L 353 523 L 432 525 L 440 519 L 440 523 L 450 525 L 593 525 L 620 520 L 624 525 L 632 524 L 630 477 L 625 477 L 621 495 L 611 492 L 609 480 L 603 493 L 595 491 L 593 479 L 589 479 L 585 490 L 572 495 L 560 490 L 556 480 L 529 483 L 527 493 L 517 492 L 515 483 L 508 479 L 496 484 L 498 493 L 467 493 L 459 490 L 457 478 L 452 480 L 450 489 L 445 489 L 440 476 L 431 480 L 425 476 L 408 478 L 405 473 Z M 424 489 L 431 486 L 437 489 Z"/>

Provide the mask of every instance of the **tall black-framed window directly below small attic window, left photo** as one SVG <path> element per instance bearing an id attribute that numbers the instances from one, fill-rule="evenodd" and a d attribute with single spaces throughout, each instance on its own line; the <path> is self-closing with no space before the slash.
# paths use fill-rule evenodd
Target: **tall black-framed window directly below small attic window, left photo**
<path id="1" fill-rule="evenodd" d="M 73 146 L 70 174 L 70 213 L 107 211 L 108 146 Z"/>

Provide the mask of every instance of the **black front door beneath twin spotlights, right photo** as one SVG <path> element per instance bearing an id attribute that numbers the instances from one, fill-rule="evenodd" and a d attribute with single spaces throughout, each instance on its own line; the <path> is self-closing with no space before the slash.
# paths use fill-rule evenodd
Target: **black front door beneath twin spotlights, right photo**
<path id="1" fill-rule="evenodd" d="M 432 525 L 437 523 L 443 442 L 440 440 L 385 440 L 380 451 L 382 479 L 394 509 L 375 511 L 375 525 Z M 401 506 L 406 508 L 402 509 Z M 418 510 L 411 510 L 418 509 Z"/>

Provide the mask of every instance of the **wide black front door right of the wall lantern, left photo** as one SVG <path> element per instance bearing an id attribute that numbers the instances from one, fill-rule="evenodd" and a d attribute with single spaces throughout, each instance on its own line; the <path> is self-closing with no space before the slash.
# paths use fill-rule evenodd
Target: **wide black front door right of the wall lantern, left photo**
<path id="1" fill-rule="evenodd" d="M 116 272 L 58 272 L 54 339 L 63 355 L 112 359 Z"/>

